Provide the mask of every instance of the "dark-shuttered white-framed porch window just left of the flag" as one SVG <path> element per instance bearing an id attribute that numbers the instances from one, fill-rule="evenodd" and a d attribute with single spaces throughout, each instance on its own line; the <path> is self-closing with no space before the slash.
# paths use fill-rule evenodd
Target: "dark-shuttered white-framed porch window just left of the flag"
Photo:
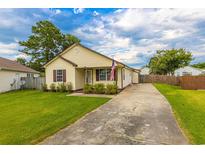
<path id="1" fill-rule="evenodd" d="M 97 69 L 96 70 L 96 81 L 109 81 L 111 69 Z"/>

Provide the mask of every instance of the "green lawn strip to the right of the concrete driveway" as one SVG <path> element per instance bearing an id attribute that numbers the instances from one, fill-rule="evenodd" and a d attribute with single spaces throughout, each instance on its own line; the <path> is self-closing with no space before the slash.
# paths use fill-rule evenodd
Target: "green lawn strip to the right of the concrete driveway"
<path id="1" fill-rule="evenodd" d="M 154 86 L 171 104 L 190 142 L 205 144 L 205 91 L 182 90 L 180 87 L 166 84 Z"/>

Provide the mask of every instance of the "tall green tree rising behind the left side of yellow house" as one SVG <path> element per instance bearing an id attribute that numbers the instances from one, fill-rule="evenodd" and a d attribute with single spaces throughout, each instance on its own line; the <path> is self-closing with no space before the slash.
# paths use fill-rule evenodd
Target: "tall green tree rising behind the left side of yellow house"
<path id="1" fill-rule="evenodd" d="M 54 58 L 59 52 L 80 40 L 70 34 L 63 34 L 50 21 L 39 21 L 32 26 L 32 34 L 26 41 L 20 41 L 24 47 L 20 52 L 30 56 L 29 66 L 43 71 L 42 65 Z"/>

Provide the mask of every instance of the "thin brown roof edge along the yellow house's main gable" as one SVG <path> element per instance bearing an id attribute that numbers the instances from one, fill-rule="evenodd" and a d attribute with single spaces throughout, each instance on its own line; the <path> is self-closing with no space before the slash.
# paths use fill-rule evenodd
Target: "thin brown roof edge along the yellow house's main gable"
<path id="1" fill-rule="evenodd" d="M 71 49 L 73 49 L 75 46 L 81 46 L 81 47 L 83 47 L 83 48 L 85 48 L 85 49 L 88 49 L 88 50 L 90 50 L 91 52 L 94 52 L 94 53 L 96 53 L 96 54 L 98 54 L 98 55 L 100 55 L 100 56 L 102 56 L 102 57 L 105 57 L 105 58 L 107 58 L 107 59 L 109 59 L 109 60 L 114 60 L 114 59 L 112 59 L 112 58 L 110 58 L 110 57 L 108 57 L 108 56 L 106 56 L 106 55 L 103 55 L 103 54 L 101 54 L 101 53 L 99 53 L 99 52 L 97 52 L 97 51 L 95 51 L 95 50 L 92 50 L 92 49 L 90 49 L 90 48 L 88 48 L 88 47 L 86 47 L 86 46 L 84 46 L 84 45 L 82 45 L 82 44 L 80 44 L 80 43 L 75 43 L 75 44 L 71 45 L 70 47 L 66 48 L 64 51 L 62 51 L 62 52 L 60 52 L 59 54 L 57 54 L 53 59 L 51 59 L 50 61 L 48 61 L 46 64 L 44 64 L 44 67 L 46 67 L 47 65 L 49 65 L 49 64 L 50 64 L 52 61 L 54 61 L 55 59 L 61 57 L 61 55 L 63 55 L 64 53 L 66 53 L 66 52 L 70 51 Z M 67 59 L 66 59 L 66 60 L 67 60 Z M 138 69 L 131 68 L 131 67 L 127 66 L 126 64 L 123 64 L 122 62 L 119 62 L 119 61 L 117 61 L 117 60 L 114 60 L 114 61 L 115 61 L 116 63 L 119 63 L 119 64 L 123 65 L 124 67 L 127 67 L 127 68 L 129 68 L 129 69 L 132 69 L 132 70 L 134 70 L 134 71 L 138 71 Z M 70 62 L 71 62 L 71 61 L 70 61 Z M 72 62 L 72 63 L 73 63 L 73 62 Z M 74 63 L 74 64 L 75 64 L 75 63 Z M 75 64 L 75 65 L 77 65 L 77 64 Z"/>

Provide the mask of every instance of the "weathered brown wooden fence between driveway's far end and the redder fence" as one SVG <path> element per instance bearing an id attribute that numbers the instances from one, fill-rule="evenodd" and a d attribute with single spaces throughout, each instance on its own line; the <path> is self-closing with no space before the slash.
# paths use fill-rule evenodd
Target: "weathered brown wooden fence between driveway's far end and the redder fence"
<path id="1" fill-rule="evenodd" d="M 179 78 L 167 75 L 140 75 L 141 83 L 166 83 L 171 85 L 179 85 Z"/>

